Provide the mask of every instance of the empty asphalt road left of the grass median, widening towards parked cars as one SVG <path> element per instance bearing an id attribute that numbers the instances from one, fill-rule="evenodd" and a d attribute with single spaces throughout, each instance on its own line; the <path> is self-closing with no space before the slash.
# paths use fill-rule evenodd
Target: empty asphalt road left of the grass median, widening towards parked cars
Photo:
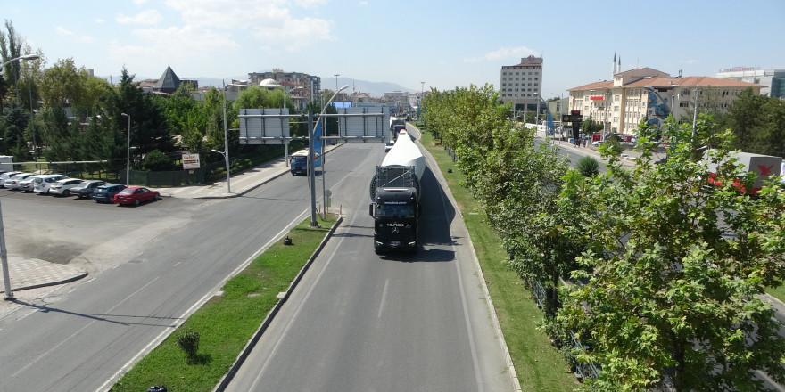
<path id="1" fill-rule="evenodd" d="M 105 390 L 310 207 L 302 177 L 232 200 L 139 208 L 0 190 L 9 253 L 87 279 L 0 320 L 0 390 Z M 20 296 L 21 297 L 21 296 Z"/>

